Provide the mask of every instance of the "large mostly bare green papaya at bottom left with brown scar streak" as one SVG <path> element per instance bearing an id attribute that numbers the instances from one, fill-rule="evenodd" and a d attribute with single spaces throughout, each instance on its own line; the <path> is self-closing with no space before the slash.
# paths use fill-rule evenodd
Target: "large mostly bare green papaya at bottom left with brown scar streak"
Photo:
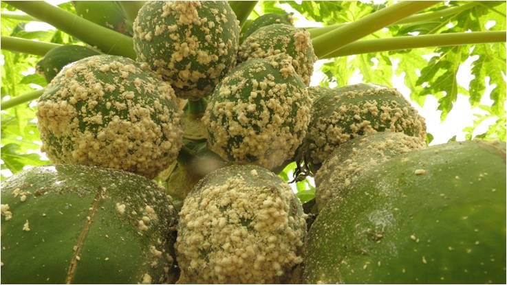
<path id="1" fill-rule="evenodd" d="M 142 176 L 87 166 L 2 183 L 2 283 L 160 283 L 177 278 L 171 198 Z"/>

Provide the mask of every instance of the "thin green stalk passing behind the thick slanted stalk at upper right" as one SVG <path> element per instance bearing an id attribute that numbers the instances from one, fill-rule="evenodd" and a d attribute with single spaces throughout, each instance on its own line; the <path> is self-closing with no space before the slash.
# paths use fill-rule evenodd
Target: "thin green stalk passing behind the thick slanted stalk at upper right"
<path id="1" fill-rule="evenodd" d="M 476 5 L 479 5 L 477 2 L 470 2 L 466 3 L 464 5 L 455 6 L 451 8 L 446 8 L 440 11 L 434 11 L 434 12 L 424 12 L 419 14 L 413 14 L 411 16 L 407 16 L 407 18 L 401 19 L 400 21 L 396 23 L 392 23 L 391 25 L 403 25 L 403 24 L 409 24 L 409 23 L 422 23 L 426 21 L 431 21 L 434 19 L 440 19 L 445 16 L 451 16 L 454 14 L 458 14 L 460 12 L 469 10 Z M 336 29 L 337 27 L 340 27 L 342 25 L 347 25 L 347 23 L 340 23 L 340 24 L 334 24 L 334 25 L 327 25 L 325 27 L 309 27 L 307 28 L 308 32 L 310 32 L 310 36 L 312 38 L 316 38 L 317 36 L 321 36 L 327 32 L 331 32 L 332 30 Z M 389 25 L 389 26 L 391 26 Z"/>

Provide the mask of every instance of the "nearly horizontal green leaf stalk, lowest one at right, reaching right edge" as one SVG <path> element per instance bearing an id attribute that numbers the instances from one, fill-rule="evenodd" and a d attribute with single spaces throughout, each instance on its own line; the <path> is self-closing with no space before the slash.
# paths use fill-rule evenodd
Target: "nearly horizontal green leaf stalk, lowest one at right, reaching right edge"
<path id="1" fill-rule="evenodd" d="M 356 41 L 345 45 L 341 49 L 327 54 L 319 59 L 350 56 L 353 54 L 368 54 L 372 52 L 387 52 L 400 49 L 418 47 L 444 47 L 449 45 L 471 45 L 481 43 L 505 43 L 506 31 L 494 32 L 460 32 L 446 34 L 425 34 L 422 36 L 396 36 L 394 38 L 379 38 L 373 40 Z"/>

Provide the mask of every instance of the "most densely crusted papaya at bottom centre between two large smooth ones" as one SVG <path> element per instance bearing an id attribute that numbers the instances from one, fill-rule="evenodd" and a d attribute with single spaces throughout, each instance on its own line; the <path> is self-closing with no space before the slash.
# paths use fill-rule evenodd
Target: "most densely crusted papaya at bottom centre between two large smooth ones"
<path id="1" fill-rule="evenodd" d="M 259 166 L 227 166 L 199 181 L 180 211 L 179 283 L 279 283 L 301 263 L 301 203 Z"/>

